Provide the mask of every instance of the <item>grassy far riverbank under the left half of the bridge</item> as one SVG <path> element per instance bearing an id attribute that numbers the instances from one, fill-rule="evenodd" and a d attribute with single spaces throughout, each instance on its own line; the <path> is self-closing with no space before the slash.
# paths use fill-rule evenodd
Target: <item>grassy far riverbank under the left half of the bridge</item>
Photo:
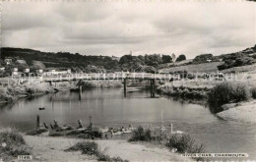
<path id="1" fill-rule="evenodd" d="M 6 79 L 7 80 L 7 79 Z M 4 83 L 4 82 L 9 82 Z M 46 93 L 53 93 L 56 91 L 65 91 L 75 89 L 77 82 L 60 81 L 60 82 L 25 82 L 19 83 L 16 81 L 4 81 L 1 80 L 0 84 L 6 84 L 0 86 L 0 103 L 8 103 L 18 100 L 19 98 L 30 97 L 35 95 L 43 95 Z M 82 81 L 83 88 L 110 88 L 121 87 L 122 81 Z"/>

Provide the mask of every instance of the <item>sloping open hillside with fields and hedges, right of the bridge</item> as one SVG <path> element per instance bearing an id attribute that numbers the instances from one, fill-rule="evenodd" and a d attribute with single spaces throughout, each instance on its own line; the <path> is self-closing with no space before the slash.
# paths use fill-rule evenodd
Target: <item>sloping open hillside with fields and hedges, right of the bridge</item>
<path id="1" fill-rule="evenodd" d="M 180 64 L 170 63 L 169 67 L 161 68 L 161 73 L 173 73 L 177 71 L 195 72 L 247 72 L 252 71 L 256 63 L 256 45 L 242 51 L 213 56 L 202 54 L 193 60 L 183 61 Z"/>

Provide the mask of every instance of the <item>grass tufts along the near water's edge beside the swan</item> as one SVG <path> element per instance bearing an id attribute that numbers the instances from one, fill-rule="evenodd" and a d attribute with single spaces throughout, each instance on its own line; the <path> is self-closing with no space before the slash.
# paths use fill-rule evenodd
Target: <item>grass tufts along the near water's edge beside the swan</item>
<path id="1" fill-rule="evenodd" d="M 204 153 L 205 145 L 198 144 L 190 135 L 166 135 L 155 134 L 153 135 L 151 130 L 145 130 L 139 126 L 129 141 L 147 141 L 147 142 L 159 142 L 168 147 L 172 152 L 178 153 Z M 202 157 L 195 158 L 198 161 L 205 160 Z"/>

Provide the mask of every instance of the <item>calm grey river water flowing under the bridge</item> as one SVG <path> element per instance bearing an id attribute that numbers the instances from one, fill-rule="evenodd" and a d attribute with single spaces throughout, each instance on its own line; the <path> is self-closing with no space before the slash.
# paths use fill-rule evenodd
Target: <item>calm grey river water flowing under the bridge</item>
<path id="1" fill-rule="evenodd" d="M 45 107 L 45 110 L 38 110 Z M 16 127 L 26 132 L 35 127 L 38 114 L 47 124 L 56 120 L 59 124 L 84 125 L 92 116 L 99 127 L 127 127 L 143 125 L 159 127 L 161 123 L 173 124 L 173 131 L 192 135 L 203 142 L 208 152 L 248 153 L 256 159 L 256 127 L 253 124 L 224 121 L 213 115 L 207 107 L 184 103 L 160 96 L 150 98 L 148 91 L 134 91 L 123 95 L 122 89 L 93 89 L 79 93 L 62 91 L 32 99 L 23 99 L 13 105 L 0 107 L 0 126 Z"/>

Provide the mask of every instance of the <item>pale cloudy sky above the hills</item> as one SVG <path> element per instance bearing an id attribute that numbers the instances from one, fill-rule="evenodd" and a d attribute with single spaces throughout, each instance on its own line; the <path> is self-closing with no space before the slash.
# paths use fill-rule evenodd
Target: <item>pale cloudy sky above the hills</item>
<path id="1" fill-rule="evenodd" d="M 256 44 L 256 3 L 4 2 L 2 46 L 83 55 L 214 55 Z"/>

